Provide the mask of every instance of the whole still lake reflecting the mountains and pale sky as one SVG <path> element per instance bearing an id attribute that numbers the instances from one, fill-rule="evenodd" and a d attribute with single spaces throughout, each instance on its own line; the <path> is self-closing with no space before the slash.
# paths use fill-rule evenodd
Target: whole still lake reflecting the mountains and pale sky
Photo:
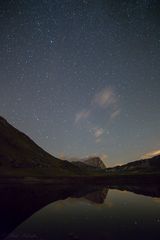
<path id="1" fill-rule="evenodd" d="M 0 195 L 1 239 L 112 240 L 160 236 L 158 185 L 3 184 Z"/>

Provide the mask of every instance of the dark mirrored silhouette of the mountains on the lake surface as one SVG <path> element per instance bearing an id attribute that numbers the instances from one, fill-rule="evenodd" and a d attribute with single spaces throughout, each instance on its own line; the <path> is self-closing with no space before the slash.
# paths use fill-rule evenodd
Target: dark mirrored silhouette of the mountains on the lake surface
<path id="1" fill-rule="evenodd" d="M 158 185 L 111 186 L 138 194 L 160 197 Z M 1 184 L 0 185 L 0 239 L 3 239 L 18 225 L 46 205 L 71 198 L 85 198 L 101 204 L 106 199 L 105 185 L 53 185 L 53 184 Z"/>

